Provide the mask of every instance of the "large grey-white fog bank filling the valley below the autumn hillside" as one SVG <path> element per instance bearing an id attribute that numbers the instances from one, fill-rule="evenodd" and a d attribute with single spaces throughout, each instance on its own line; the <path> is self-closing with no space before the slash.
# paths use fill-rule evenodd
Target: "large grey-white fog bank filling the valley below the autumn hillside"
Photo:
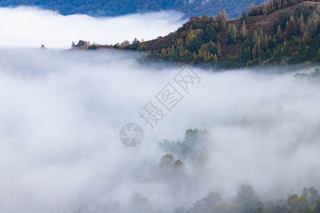
<path id="1" fill-rule="evenodd" d="M 320 188 L 320 86 L 294 77 L 314 67 L 191 67 L 201 82 L 150 130 L 137 112 L 181 67 L 140 56 L 0 49 L 0 212 L 173 212 L 233 200 L 246 180 L 262 202 Z M 119 141 L 128 122 L 144 129 L 134 148 Z M 199 155 L 159 145 L 187 129 L 209 144 Z"/>

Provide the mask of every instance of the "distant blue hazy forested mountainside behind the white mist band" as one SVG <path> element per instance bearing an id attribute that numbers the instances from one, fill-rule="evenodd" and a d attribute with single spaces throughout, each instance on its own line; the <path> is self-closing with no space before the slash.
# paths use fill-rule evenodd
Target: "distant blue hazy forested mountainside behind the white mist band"
<path id="1" fill-rule="evenodd" d="M 248 11 L 251 3 L 262 4 L 263 0 L 9 0 L 0 1 L 0 6 L 38 6 L 43 9 L 59 11 L 63 15 L 83 13 L 90 16 L 119 16 L 128 13 L 144 13 L 148 11 L 176 10 L 186 16 L 216 15 L 219 9 L 225 9 L 229 18 L 238 18 L 242 11 Z"/>

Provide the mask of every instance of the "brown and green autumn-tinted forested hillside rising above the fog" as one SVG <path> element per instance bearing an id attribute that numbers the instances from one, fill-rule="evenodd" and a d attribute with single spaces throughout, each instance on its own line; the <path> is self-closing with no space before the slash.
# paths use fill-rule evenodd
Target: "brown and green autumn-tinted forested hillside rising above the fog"
<path id="1" fill-rule="evenodd" d="M 193 17 L 164 38 L 114 48 L 147 50 L 147 60 L 222 67 L 319 62 L 319 13 L 316 1 L 272 0 L 231 21 L 225 11 Z"/>

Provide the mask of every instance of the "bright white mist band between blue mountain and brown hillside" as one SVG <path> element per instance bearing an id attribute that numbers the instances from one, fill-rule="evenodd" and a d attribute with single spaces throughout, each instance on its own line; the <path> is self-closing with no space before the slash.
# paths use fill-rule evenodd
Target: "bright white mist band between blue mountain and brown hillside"
<path id="1" fill-rule="evenodd" d="M 33 7 L 0 8 L 0 45 L 6 47 L 70 48 L 72 41 L 113 45 L 151 40 L 169 34 L 186 22 L 183 13 L 161 11 L 117 17 L 62 16 Z"/>

